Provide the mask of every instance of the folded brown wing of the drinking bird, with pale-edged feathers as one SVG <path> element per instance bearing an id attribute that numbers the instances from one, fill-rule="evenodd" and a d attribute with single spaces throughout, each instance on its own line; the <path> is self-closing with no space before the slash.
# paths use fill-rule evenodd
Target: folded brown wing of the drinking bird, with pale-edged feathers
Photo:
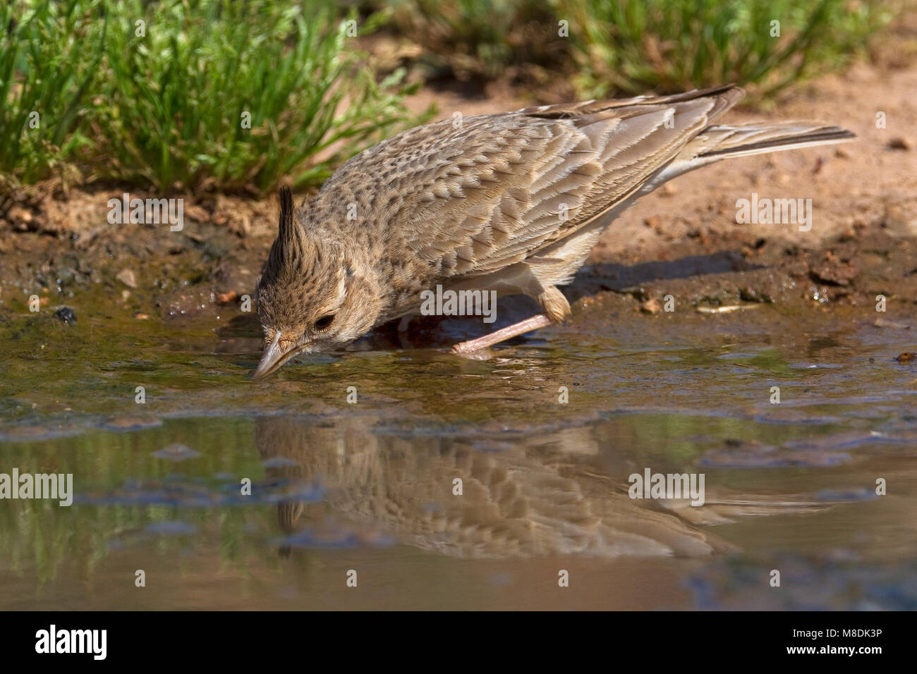
<path id="1" fill-rule="evenodd" d="M 743 94 L 544 105 L 403 134 L 377 158 L 407 167 L 399 243 L 447 277 L 525 260 L 634 193 Z"/>

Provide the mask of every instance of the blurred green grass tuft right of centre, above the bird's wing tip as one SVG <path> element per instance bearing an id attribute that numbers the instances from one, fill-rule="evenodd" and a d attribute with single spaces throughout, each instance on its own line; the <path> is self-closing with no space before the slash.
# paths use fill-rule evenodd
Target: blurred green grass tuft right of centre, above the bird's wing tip
<path id="1" fill-rule="evenodd" d="M 719 83 L 767 97 L 843 66 L 890 19 L 850 0 L 555 0 L 569 17 L 584 96 Z M 772 36 L 779 21 L 779 37 Z"/>

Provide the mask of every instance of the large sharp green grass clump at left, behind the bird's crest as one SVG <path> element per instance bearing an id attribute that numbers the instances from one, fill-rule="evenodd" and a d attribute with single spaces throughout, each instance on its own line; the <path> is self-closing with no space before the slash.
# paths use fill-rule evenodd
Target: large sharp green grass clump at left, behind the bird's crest
<path id="1" fill-rule="evenodd" d="M 5 19 L 34 17 L 3 42 L 0 165 L 14 181 L 76 161 L 89 180 L 166 193 L 303 187 L 416 123 L 403 72 L 376 82 L 332 0 L 13 6 Z M 33 109 L 40 134 L 24 126 Z"/>

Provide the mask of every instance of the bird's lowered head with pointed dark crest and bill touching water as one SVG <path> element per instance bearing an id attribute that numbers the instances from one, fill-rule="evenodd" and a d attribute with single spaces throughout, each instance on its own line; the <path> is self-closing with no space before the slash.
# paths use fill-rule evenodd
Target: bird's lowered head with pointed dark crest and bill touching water
<path id="1" fill-rule="evenodd" d="M 301 222 L 293 194 L 282 188 L 280 229 L 255 291 L 264 330 L 255 379 L 293 356 L 342 347 L 370 330 L 381 297 L 363 260 L 352 242 Z"/>

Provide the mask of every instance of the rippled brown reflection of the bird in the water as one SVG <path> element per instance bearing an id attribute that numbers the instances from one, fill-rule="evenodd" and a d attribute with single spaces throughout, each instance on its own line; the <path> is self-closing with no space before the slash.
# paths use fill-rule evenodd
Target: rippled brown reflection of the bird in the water
<path id="1" fill-rule="evenodd" d="M 378 422 L 258 419 L 261 459 L 291 459 L 271 461 L 271 477 L 317 483 L 326 492 L 324 503 L 278 504 L 287 541 L 307 529 L 299 541 L 305 547 L 381 536 L 461 558 L 700 557 L 734 548 L 695 525 L 828 505 L 715 493 L 701 508 L 632 500 L 626 475 L 635 467 L 601 452 L 588 427 L 514 436 L 494 451 L 486 437 L 470 444 L 374 432 Z M 289 542 L 281 552 L 289 554 Z"/>

